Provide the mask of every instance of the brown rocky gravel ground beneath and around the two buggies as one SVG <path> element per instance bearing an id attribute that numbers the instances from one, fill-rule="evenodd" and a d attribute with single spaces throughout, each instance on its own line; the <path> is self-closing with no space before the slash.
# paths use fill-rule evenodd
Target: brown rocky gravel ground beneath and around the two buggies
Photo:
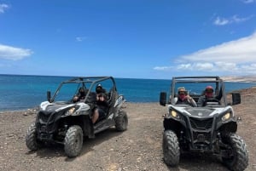
<path id="1" fill-rule="evenodd" d="M 241 105 L 234 106 L 241 117 L 238 133 L 247 143 L 249 166 L 256 170 L 256 88 L 241 90 Z M 227 170 L 215 157 L 187 154 L 177 168 L 163 162 L 162 121 L 166 107 L 158 103 L 127 103 L 128 129 L 114 128 L 84 140 L 79 157 L 65 156 L 62 145 L 29 151 L 25 145 L 26 129 L 35 120 L 35 111 L 0 113 L 0 170 Z"/>

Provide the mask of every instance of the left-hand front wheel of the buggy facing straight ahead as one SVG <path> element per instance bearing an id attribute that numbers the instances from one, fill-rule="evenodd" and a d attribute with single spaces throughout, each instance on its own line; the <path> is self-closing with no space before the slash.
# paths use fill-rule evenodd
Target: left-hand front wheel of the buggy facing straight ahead
<path id="1" fill-rule="evenodd" d="M 169 166 L 177 166 L 180 157 L 179 144 L 177 135 L 171 130 L 166 130 L 164 132 L 163 152 L 166 164 Z"/>

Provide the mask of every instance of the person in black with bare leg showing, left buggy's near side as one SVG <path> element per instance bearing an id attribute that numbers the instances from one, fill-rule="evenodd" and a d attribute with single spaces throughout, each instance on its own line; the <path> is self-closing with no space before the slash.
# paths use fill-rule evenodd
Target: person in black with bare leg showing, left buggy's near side
<path id="1" fill-rule="evenodd" d="M 93 109 L 92 123 L 102 120 L 108 114 L 108 95 L 106 90 L 102 88 L 102 84 L 96 85 L 96 107 Z"/>

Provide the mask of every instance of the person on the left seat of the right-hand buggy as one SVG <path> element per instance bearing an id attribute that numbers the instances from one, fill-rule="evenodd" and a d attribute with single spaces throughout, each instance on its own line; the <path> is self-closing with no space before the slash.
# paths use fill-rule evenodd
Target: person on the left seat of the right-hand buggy
<path id="1" fill-rule="evenodd" d="M 177 88 L 177 101 L 175 105 L 191 105 L 193 107 L 197 106 L 195 100 L 189 96 L 184 87 Z"/>

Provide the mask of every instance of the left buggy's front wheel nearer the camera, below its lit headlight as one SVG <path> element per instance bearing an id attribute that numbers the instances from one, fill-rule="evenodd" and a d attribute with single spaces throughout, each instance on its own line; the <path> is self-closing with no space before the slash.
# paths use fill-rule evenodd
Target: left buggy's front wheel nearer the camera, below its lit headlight
<path id="1" fill-rule="evenodd" d="M 67 157 L 79 156 L 83 147 L 83 138 L 83 130 L 79 127 L 79 125 L 74 125 L 67 129 L 64 140 L 64 150 Z"/>

